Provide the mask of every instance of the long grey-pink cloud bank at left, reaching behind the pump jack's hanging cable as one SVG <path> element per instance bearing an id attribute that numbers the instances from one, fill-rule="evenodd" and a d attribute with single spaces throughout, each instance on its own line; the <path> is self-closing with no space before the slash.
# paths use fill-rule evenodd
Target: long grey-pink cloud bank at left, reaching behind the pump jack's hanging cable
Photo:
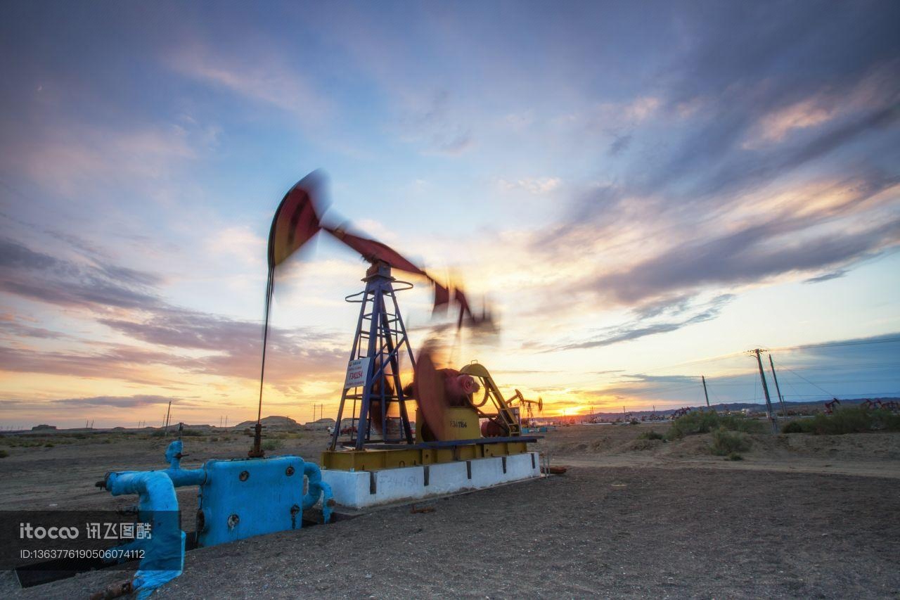
<path id="1" fill-rule="evenodd" d="M 0 349 L 0 369 L 73 377 L 121 378 L 144 384 L 168 383 L 154 366 L 217 377 L 257 379 L 262 357 L 262 325 L 170 305 L 154 284 L 156 274 L 114 263 L 61 259 L 0 238 L 0 290 L 29 300 L 78 307 L 95 323 L 135 341 L 94 341 L 87 348 Z M 52 339 L 55 332 L 11 319 L 0 331 L 16 337 Z M 284 386 L 338 377 L 347 359 L 346 340 L 321 328 L 269 332 L 266 381 Z"/>

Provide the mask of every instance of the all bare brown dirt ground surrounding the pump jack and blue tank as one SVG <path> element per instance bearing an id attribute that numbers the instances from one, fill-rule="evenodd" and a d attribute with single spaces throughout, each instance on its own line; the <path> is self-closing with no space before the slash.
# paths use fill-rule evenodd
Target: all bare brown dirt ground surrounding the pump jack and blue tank
<path id="1" fill-rule="evenodd" d="M 665 427 L 563 427 L 537 444 L 563 476 L 192 550 L 156 595 L 900 597 L 900 434 L 757 434 L 726 461 L 706 435 L 637 439 Z M 185 438 L 184 466 L 245 454 L 248 439 L 230 437 Z M 102 439 L 8 449 L 0 508 L 133 504 L 94 481 L 164 467 L 166 441 Z M 318 460 L 325 435 L 282 443 L 273 453 Z M 184 514 L 195 495 L 179 491 Z M 0 596 L 69 600 L 124 576 L 21 589 L 4 573 Z"/>

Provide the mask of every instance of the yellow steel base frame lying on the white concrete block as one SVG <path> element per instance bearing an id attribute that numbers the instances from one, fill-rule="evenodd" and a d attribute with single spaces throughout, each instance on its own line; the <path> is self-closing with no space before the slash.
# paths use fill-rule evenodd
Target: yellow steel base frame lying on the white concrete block
<path id="1" fill-rule="evenodd" d="M 325 450 L 322 467 L 341 471 L 377 471 L 383 468 L 434 465 L 455 460 L 487 459 L 528 451 L 525 441 L 490 441 L 490 438 L 452 448 L 410 448 L 403 450 Z"/>

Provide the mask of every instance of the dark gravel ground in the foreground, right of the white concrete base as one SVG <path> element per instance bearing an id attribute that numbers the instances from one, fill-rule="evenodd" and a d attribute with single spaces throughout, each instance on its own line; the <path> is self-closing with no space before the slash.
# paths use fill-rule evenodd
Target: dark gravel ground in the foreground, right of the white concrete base
<path id="1" fill-rule="evenodd" d="M 900 597 L 900 478 L 740 464 L 580 466 L 193 550 L 155 597 Z M 6 574 L 0 596 L 70 600 L 122 577 L 22 590 Z"/>

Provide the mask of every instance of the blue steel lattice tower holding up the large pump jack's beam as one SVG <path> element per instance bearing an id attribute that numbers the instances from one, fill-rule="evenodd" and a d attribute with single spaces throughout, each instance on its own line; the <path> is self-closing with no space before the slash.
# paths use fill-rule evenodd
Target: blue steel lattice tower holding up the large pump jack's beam
<path id="1" fill-rule="evenodd" d="M 397 281 L 391 275 L 391 268 L 384 263 L 375 263 L 365 273 L 365 290 L 354 295 L 348 295 L 347 302 L 361 303 L 359 319 L 356 324 L 356 335 L 353 341 L 353 350 L 350 350 L 350 360 L 369 358 L 369 370 L 366 373 L 365 385 L 362 392 L 358 387 L 347 387 L 341 394 L 338 407 L 338 421 L 331 435 L 329 450 L 335 450 L 338 446 L 341 421 L 344 416 L 344 408 L 347 400 L 353 400 L 353 421 L 356 425 L 356 438 L 354 442 L 356 450 L 363 450 L 366 443 L 383 442 L 398 443 L 405 441 L 413 444 L 412 429 L 410 427 L 410 415 L 406 406 L 406 398 L 403 395 L 403 386 L 400 380 L 401 352 L 406 349 L 410 357 L 412 368 L 416 367 L 416 360 L 412 356 L 410 341 L 407 338 L 406 327 L 397 305 L 396 291 L 410 289 L 407 287 L 394 289 L 393 283 Z M 400 282 L 404 284 L 405 282 Z M 352 300 L 362 295 L 362 300 Z M 389 312 L 390 308 L 393 312 Z M 368 310 L 368 312 L 366 312 Z M 354 390 L 350 393 L 350 390 Z M 372 404 L 373 400 L 379 402 L 383 436 L 381 440 L 372 439 Z M 359 402 L 359 414 L 356 414 L 356 403 Z M 400 405 L 401 438 L 388 439 L 387 414 L 392 403 Z"/>

